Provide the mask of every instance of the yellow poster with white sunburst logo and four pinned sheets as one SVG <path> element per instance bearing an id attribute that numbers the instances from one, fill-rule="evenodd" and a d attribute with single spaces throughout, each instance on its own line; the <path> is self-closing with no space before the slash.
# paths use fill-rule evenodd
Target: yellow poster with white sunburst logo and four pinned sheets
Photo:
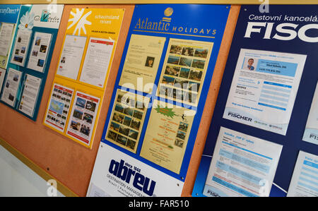
<path id="1" fill-rule="evenodd" d="M 51 90 L 54 101 L 48 102 L 43 123 L 89 148 L 123 18 L 123 8 L 73 8 L 69 15 Z"/>

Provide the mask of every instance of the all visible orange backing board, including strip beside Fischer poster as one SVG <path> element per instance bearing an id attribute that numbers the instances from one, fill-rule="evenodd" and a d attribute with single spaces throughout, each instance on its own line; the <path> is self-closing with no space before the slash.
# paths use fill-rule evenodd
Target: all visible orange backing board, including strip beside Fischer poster
<path id="1" fill-rule="evenodd" d="M 45 115 L 47 101 L 49 100 L 49 92 L 52 88 L 52 80 L 57 69 L 59 53 L 63 37 L 66 31 L 67 20 L 71 8 L 125 8 L 124 20 L 122 29 L 119 35 L 119 40 L 112 61 L 110 77 L 107 82 L 104 101 L 100 111 L 100 119 L 96 128 L 95 138 L 93 140 L 92 150 L 89 150 L 78 143 L 69 140 L 69 138 L 52 131 L 42 125 L 42 119 Z M 19 114 L 12 109 L 0 104 L 0 137 L 7 143 L 20 151 L 25 157 L 32 160 L 39 167 L 47 171 L 48 174 L 54 176 L 59 182 L 67 186 L 71 191 L 79 196 L 85 196 L 90 182 L 95 157 L 98 152 L 98 146 L 102 138 L 102 131 L 107 116 L 107 110 L 110 105 L 110 98 L 114 88 L 114 83 L 117 76 L 126 35 L 129 30 L 129 25 L 134 11 L 133 5 L 65 5 L 64 13 L 57 35 L 57 42 L 54 47 L 51 66 L 47 76 L 47 83 L 43 92 L 42 102 L 40 104 L 37 121 L 33 122 L 25 116 Z M 240 6 L 231 6 L 228 23 L 225 27 L 223 41 L 220 46 L 220 52 L 216 61 L 216 68 L 211 80 L 211 86 L 208 92 L 206 105 L 199 126 L 196 143 L 192 152 L 192 159 L 189 164 L 187 177 L 184 183 L 182 196 L 191 196 L 192 188 L 196 178 L 196 171 L 199 168 L 201 154 L 204 149 L 204 143 L 208 128 L 211 123 L 213 108 L 216 104 L 218 89 L 223 76 L 225 63 L 232 42 L 232 35 L 235 30 L 237 16 L 240 11 Z"/>

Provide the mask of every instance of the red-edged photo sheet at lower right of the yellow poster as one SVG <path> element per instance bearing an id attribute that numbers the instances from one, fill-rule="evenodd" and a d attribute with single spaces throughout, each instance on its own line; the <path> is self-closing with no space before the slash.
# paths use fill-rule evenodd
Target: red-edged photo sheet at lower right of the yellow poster
<path id="1" fill-rule="evenodd" d="M 99 104 L 98 97 L 77 91 L 66 134 L 90 145 Z"/>

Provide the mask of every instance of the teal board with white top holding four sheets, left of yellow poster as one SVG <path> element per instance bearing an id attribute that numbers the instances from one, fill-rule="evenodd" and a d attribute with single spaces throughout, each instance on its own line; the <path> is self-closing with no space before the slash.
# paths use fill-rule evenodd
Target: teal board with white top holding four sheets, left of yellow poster
<path id="1" fill-rule="evenodd" d="M 64 5 L 23 5 L 13 44 L 1 101 L 36 121 L 45 88 Z"/>

